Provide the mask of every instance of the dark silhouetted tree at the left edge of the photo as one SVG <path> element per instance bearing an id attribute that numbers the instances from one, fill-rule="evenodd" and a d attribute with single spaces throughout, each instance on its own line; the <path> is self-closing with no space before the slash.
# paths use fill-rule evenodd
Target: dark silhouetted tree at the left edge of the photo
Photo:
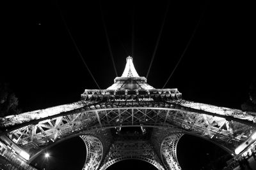
<path id="1" fill-rule="evenodd" d="M 0 117 L 20 113 L 18 98 L 8 87 L 8 83 L 0 82 Z"/>

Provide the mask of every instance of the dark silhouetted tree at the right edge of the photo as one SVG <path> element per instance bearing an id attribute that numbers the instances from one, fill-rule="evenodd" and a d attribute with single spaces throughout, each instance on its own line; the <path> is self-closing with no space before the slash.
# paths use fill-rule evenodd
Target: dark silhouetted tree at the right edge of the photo
<path id="1" fill-rule="evenodd" d="M 253 79 L 250 90 L 249 99 L 245 103 L 241 104 L 243 111 L 253 111 L 256 112 L 256 78 Z"/>

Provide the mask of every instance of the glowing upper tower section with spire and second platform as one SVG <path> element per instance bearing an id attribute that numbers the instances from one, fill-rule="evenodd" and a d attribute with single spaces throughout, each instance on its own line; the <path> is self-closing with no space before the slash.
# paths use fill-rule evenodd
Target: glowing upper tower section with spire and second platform
<path id="1" fill-rule="evenodd" d="M 159 101 L 181 99 L 178 89 L 155 89 L 139 76 L 132 57 L 126 58 L 124 73 L 108 89 L 86 89 L 82 99 L 90 101 Z"/>

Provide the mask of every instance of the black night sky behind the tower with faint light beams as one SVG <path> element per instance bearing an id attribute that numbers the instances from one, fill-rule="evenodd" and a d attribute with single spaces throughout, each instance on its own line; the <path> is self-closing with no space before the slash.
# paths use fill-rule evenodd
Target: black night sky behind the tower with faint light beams
<path id="1" fill-rule="evenodd" d="M 200 20 L 166 88 L 178 88 L 186 100 L 228 108 L 240 109 L 248 100 L 250 82 L 255 78 L 255 18 L 248 2 L 10 1 L 1 7 L 0 77 L 10 84 L 23 111 L 72 103 L 80 99 L 84 89 L 98 89 L 81 56 L 101 89 L 113 83 L 116 74 L 102 20 L 118 76 L 128 55 L 132 55 L 138 74 L 146 76 L 166 9 L 147 82 L 155 88 L 163 87 Z M 63 148 L 84 147 L 83 143 L 79 145 L 79 138 L 70 140 L 52 148 L 52 154 L 63 156 Z M 180 148 L 202 146 L 200 139 L 191 136 L 184 136 L 182 142 Z M 213 147 L 204 145 L 205 150 Z M 191 152 L 185 150 L 187 155 Z M 196 152 L 197 159 L 207 162 L 200 158 L 208 154 L 211 159 L 215 153 L 209 152 Z M 56 156 L 56 162 L 69 162 L 74 169 L 83 166 L 83 152 L 68 153 L 77 159 L 67 161 Z"/>

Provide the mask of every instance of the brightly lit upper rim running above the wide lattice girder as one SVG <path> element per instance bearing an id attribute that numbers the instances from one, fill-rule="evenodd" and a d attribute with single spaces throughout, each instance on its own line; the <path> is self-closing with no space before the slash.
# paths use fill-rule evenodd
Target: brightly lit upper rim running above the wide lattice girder
<path id="1" fill-rule="evenodd" d="M 77 104 L 79 103 L 79 104 Z M 108 101 L 101 102 L 99 104 L 93 104 L 95 102 L 80 101 L 74 104 L 70 104 L 67 109 L 65 105 L 56 106 L 57 111 L 51 111 L 51 108 L 40 111 L 31 111 L 28 113 L 21 113 L 20 115 L 12 115 L 5 117 L 0 122 L 0 127 L 4 131 L 1 134 L 6 134 L 7 132 L 19 129 L 30 124 L 37 124 L 43 120 L 56 118 L 65 115 L 72 115 L 76 113 L 81 113 L 83 111 L 89 110 L 104 110 L 111 108 L 173 108 L 183 111 L 191 111 L 195 113 L 212 115 L 215 117 L 226 118 L 227 120 L 234 120 L 242 124 L 251 125 L 256 127 L 256 113 L 244 112 L 241 110 L 234 110 L 230 108 L 223 108 L 218 106 L 212 106 L 209 104 L 193 103 L 191 101 L 176 100 L 176 101 Z M 73 107 L 73 110 L 71 109 Z M 76 108 L 77 107 L 77 108 Z M 58 109 L 57 109 L 58 108 Z"/>

